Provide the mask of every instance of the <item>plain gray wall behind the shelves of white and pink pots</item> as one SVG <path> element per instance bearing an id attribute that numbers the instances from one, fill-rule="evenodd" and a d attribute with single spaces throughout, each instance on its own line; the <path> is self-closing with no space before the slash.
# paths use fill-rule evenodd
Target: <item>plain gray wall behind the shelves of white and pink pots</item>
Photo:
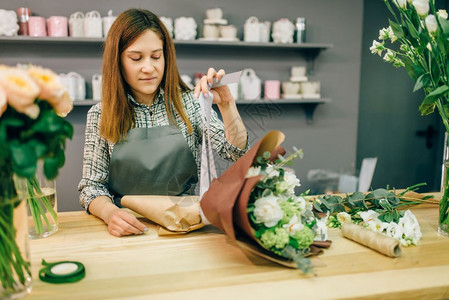
<path id="1" fill-rule="evenodd" d="M 286 134 L 284 146 L 303 148 L 304 159 L 294 169 L 303 184 L 309 186 L 306 174 L 309 169 L 323 168 L 335 171 L 353 171 L 356 162 L 357 121 L 361 68 L 363 2 L 359 0 L 281 0 L 281 1 L 36 1 L 3 0 L 0 8 L 30 7 L 37 15 L 69 16 L 75 11 L 98 10 L 105 15 L 109 9 L 114 14 L 130 8 L 141 7 L 155 13 L 176 18 L 192 16 L 202 29 L 205 10 L 222 7 L 224 17 L 239 28 L 242 37 L 245 20 L 254 15 L 259 20 L 276 21 L 281 17 L 294 20 L 298 16 L 307 19 L 307 41 L 331 43 L 333 48 L 320 54 L 315 64 L 314 79 L 322 84 L 322 95 L 332 102 L 316 109 L 314 124 L 307 125 L 300 105 L 275 105 L 264 111 L 241 108 L 252 142 L 271 129 Z M 19 49 L 20 48 L 20 49 Z M 253 68 L 262 80 L 288 80 L 292 65 L 305 64 L 297 52 L 263 51 L 198 51 L 178 49 L 181 73 L 192 75 L 207 67 L 235 71 Z M 78 71 L 87 79 L 101 70 L 101 49 L 96 46 L 52 46 L 36 49 L 17 46 L 0 47 L 2 63 L 33 62 L 57 72 Z M 77 184 L 81 177 L 84 122 L 87 109 L 75 107 L 68 116 L 75 126 L 75 137 L 68 143 L 67 162 L 58 178 L 58 199 L 61 210 L 79 209 Z M 227 164 L 218 162 L 220 171 Z"/>

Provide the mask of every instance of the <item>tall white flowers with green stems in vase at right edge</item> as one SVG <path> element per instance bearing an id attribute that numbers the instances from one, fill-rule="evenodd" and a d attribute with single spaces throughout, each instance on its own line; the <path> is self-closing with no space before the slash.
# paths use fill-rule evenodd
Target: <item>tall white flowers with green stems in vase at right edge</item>
<path id="1" fill-rule="evenodd" d="M 438 231 L 449 236 L 449 21 L 446 10 L 435 0 L 384 0 L 393 18 L 379 31 L 370 50 L 395 67 L 404 67 L 415 81 L 413 91 L 423 90 L 421 115 L 435 110 L 441 116 L 446 138 L 441 183 Z M 399 47 L 387 45 L 398 43 Z"/>

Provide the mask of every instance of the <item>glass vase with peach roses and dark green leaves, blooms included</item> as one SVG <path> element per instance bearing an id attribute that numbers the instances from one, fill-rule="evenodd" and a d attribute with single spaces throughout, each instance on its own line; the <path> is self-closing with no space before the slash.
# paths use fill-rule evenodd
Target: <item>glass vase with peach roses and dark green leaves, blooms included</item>
<path id="1" fill-rule="evenodd" d="M 31 290 L 26 204 L 37 218 L 44 217 L 45 204 L 25 199 L 39 191 L 34 181 L 38 161 L 43 162 L 47 178 L 55 178 L 64 165 L 65 141 L 72 137 L 73 126 L 63 116 L 72 107 L 51 70 L 0 65 L 1 299 L 15 299 Z"/>

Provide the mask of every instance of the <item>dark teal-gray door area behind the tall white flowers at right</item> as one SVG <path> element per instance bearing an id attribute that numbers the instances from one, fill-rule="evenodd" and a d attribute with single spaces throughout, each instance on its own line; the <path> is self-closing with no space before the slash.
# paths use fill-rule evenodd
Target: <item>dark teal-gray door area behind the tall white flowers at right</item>
<path id="1" fill-rule="evenodd" d="M 418 106 L 422 91 L 412 93 L 414 82 L 404 68 L 396 69 L 370 53 L 379 29 L 392 18 L 383 1 L 364 1 L 362 72 L 357 137 L 357 165 L 364 157 L 379 158 L 374 187 L 404 188 L 426 182 L 421 191 L 440 188 L 444 128 L 438 113 L 422 117 Z M 437 8 L 448 8 L 448 1 L 437 1 Z M 417 132 L 434 128 L 438 132 L 426 145 Z"/>

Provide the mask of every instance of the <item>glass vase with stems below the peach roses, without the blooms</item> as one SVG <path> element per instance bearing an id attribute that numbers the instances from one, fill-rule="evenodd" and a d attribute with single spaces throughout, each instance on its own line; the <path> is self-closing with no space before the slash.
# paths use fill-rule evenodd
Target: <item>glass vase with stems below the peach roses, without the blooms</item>
<path id="1" fill-rule="evenodd" d="M 32 287 L 27 207 L 12 172 L 0 165 L 0 299 L 20 299 Z"/>

